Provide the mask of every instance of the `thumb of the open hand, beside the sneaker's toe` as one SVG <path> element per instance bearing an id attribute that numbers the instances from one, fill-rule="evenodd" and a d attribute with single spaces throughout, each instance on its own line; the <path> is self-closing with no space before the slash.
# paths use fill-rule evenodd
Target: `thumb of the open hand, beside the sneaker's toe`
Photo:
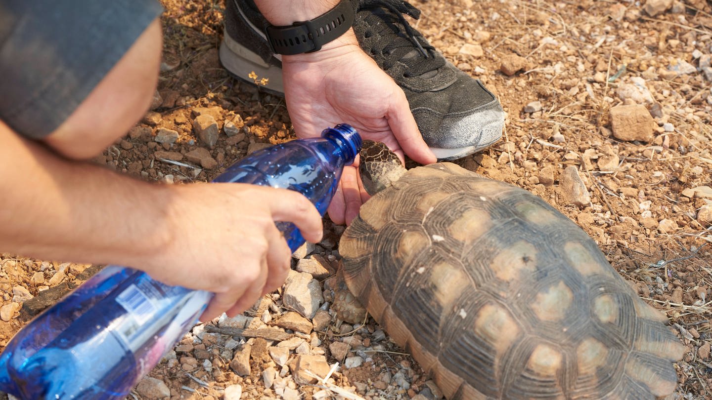
<path id="1" fill-rule="evenodd" d="M 401 92 L 402 93 L 402 92 Z M 421 164 L 432 164 L 437 161 L 435 154 L 431 152 L 428 145 L 423 140 L 423 136 L 418 130 L 413 113 L 408 107 L 408 100 L 405 95 L 394 96 L 398 98 L 391 103 L 387 118 L 394 137 L 408 157 Z"/>

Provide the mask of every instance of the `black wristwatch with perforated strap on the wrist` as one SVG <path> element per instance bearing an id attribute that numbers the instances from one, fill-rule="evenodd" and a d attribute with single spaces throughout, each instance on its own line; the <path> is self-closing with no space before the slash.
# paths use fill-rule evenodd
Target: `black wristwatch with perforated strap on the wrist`
<path id="1" fill-rule="evenodd" d="M 333 9 L 315 19 L 295 22 L 291 26 L 268 25 L 265 31 L 273 53 L 293 56 L 320 50 L 321 46 L 348 31 L 353 23 L 351 1 L 341 0 Z"/>

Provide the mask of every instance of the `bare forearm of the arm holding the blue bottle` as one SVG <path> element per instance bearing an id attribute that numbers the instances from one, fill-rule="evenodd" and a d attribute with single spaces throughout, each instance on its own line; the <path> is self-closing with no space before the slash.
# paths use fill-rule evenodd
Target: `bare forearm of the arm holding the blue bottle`
<path id="1" fill-rule="evenodd" d="M 0 251 L 130 263 L 170 240 L 168 186 L 63 159 L 2 122 L 0 143 Z"/>

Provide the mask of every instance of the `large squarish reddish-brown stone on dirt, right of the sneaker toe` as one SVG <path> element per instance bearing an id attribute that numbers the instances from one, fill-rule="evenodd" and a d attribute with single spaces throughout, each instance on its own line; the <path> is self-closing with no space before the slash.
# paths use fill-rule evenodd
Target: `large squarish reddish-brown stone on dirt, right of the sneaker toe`
<path id="1" fill-rule="evenodd" d="M 611 130 L 618 140 L 651 142 L 657 126 L 644 105 L 617 105 L 611 107 Z"/>

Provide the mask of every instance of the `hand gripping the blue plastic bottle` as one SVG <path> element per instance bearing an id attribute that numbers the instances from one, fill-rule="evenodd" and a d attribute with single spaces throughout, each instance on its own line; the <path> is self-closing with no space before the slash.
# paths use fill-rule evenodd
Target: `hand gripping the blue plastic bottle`
<path id="1" fill-rule="evenodd" d="M 140 268 L 164 283 L 215 293 L 201 320 L 237 315 L 284 283 L 292 252 L 275 221 L 321 240 L 319 212 L 296 191 L 239 183 L 169 190 L 172 238 Z"/>

